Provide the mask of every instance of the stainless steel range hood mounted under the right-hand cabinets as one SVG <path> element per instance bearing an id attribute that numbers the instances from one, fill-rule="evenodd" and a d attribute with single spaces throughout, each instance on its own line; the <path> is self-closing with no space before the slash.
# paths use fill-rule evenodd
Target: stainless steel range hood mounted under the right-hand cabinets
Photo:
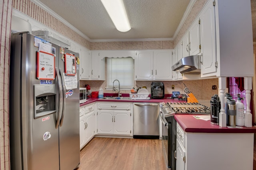
<path id="1" fill-rule="evenodd" d="M 179 71 L 182 74 L 200 74 L 200 68 L 200 55 L 184 57 L 172 66 L 173 71 Z"/>

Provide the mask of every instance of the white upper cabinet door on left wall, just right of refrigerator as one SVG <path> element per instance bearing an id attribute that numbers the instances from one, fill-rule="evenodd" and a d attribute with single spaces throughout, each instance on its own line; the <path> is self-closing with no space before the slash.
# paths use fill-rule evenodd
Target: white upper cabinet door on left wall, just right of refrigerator
<path id="1" fill-rule="evenodd" d="M 86 48 L 81 49 L 80 56 L 80 79 L 88 80 L 90 78 L 90 51 Z"/>

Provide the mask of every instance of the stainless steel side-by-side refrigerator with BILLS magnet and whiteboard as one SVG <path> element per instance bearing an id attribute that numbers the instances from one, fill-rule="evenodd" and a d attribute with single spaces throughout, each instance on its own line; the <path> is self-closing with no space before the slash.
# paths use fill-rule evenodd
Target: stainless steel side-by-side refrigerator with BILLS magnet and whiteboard
<path id="1" fill-rule="evenodd" d="M 34 35 L 12 35 L 11 170 L 73 170 L 79 166 L 77 57 L 78 53 Z"/>

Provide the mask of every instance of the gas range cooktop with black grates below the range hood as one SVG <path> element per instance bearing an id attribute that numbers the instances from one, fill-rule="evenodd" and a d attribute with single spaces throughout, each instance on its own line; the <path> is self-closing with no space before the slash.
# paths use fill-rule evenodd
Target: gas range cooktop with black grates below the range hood
<path id="1" fill-rule="evenodd" d="M 169 117 L 174 114 L 210 114 L 210 108 L 199 103 L 185 102 L 167 102 L 160 104 L 160 108 L 164 117 Z"/>

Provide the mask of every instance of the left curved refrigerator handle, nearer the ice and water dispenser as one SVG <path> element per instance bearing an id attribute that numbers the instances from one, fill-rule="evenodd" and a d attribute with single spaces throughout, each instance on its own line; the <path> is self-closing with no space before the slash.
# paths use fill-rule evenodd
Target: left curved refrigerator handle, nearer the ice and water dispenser
<path id="1" fill-rule="evenodd" d="M 55 68 L 55 72 L 57 75 L 57 82 L 58 82 L 58 94 L 59 94 L 59 109 L 56 112 L 58 114 L 57 120 L 56 120 L 56 129 L 58 129 L 59 124 L 60 124 L 60 116 L 62 114 L 62 108 L 63 108 L 63 89 L 62 89 L 62 84 L 60 80 L 60 74 L 58 73 L 58 68 Z"/>

